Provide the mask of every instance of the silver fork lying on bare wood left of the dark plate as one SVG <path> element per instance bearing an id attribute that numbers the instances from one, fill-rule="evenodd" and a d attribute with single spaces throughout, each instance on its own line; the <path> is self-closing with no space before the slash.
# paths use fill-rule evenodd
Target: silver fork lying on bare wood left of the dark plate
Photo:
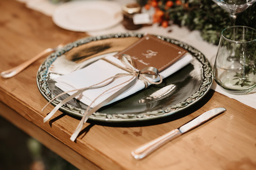
<path id="1" fill-rule="evenodd" d="M 30 64 L 32 64 L 33 62 L 35 62 L 37 59 L 40 59 L 42 56 L 46 55 L 49 52 L 54 52 L 57 51 L 58 49 L 60 49 L 61 47 L 63 47 L 64 44 L 60 44 L 55 48 L 47 48 L 46 50 L 40 52 L 39 54 L 37 54 L 35 57 L 28 59 L 27 61 L 21 63 L 20 65 L 11 68 L 9 70 L 3 71 L 1 72 L 1 76 L 3 78 L 10 78 L 12 76 L 17 75 L 19 72 L 21 72 L 22 70 L 24 70 L 25 68 L 27 68 L 27 66 L 29 66 Z"/>

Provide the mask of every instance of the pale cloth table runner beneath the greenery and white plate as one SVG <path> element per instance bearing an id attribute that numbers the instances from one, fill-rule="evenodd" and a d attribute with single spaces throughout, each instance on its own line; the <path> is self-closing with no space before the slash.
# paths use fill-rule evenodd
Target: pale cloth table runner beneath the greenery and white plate
<path id="1" fill-rule="evenodd" d="M 27 8 L 37 10 L 49 17 L 53 15 L 55 8 L 57 8 L 62 4 L 62 3 L 53 4 L 53 3 L 50 3 L 49 0 L 18 0 L 18 1 L 26 3 Z M 120 4 L 124 4 L 127 0 L 116 0 L 116 1 L 118 1 Z M 91 36 L 97 36 L 102 34 L 116 34 L 116 33 L 125 33 L 125 32 L 129 32 L 129 31 L 126 30 L 121 24 L 119 24 L 117 26 L 111 27 L 104 31 L 95 31 L 95 32 L 87 32 L 87 33 L 90 34 Z M 197 31 L 197 30 L 190 31 L 186 27 L 179 27 L 177 25 L 171 25 L 171 26 L 168 26 L 167 28 L 163 28 L 161 26 L 158 26 L 158 24 L 154 24 L 152 26 L 142 27 L 136 30 L 136 32 L 163 35 L 163 36 L 167 36 L 167 37 L 185 42 L 193 46 L 194 48 L 198 49 L 199 51 L 201 51 L 205 55 L 205 57 L 209 60 L 210 65 L 212 67 L 214 65 L 215 57 L 218 51 L 218 46 L 205 42 L 201 38 L 200 31 Z M 255 91 L 246 95 L 234 95 L 224 91 L 219 85 L 216 84 L 215 81 L 213 82 L 211 89 L 256 109 L 256 104 L 255 104 L 256 92 Z"/>

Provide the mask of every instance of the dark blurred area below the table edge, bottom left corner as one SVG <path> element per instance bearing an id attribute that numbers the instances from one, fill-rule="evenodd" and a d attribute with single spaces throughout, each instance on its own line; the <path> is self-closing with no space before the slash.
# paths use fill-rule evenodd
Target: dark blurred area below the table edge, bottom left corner
<path id="1" fill-rule="evenodd" d="M 0 117 L 0 170 L 78 170 Z"/>

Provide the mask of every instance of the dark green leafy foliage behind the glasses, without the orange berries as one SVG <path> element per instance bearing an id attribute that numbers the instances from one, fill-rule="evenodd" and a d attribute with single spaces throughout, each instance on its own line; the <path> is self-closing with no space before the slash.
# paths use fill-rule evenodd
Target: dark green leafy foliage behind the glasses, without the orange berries
<path id="1" fill-rule="evenodd" d="M 158 7 L 168 15 L 168 19 L 190 30 L 200 30 L 201 37 L 207 42 L 218 45 L 221 31 L 231 26 L 229 13 L 212 0 L 182 0 L 183 5 L 172 0 L 174 6 L 169 9 L 165 9 L 166 1 L 158 0 L 161 2 Z M 148 0 L 138 2 L 143 6 Z M 256 28 L 256 3 L 238 14 L 236 25 Z"/>

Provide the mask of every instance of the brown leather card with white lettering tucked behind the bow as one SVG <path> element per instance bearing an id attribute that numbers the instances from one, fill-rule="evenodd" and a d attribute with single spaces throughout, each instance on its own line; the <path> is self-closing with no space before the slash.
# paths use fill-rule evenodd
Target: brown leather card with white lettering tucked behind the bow
<path id="1" fill-rule="evenodd" d="M 180 59 L 186 52 L 173 43 L 158 39 L 154 35 L 146 35 L 114 56 L 119 58 L 122 54 L 128 54 L 134 60 L 137 69 L 151 66 L 161 71 Z"/>

